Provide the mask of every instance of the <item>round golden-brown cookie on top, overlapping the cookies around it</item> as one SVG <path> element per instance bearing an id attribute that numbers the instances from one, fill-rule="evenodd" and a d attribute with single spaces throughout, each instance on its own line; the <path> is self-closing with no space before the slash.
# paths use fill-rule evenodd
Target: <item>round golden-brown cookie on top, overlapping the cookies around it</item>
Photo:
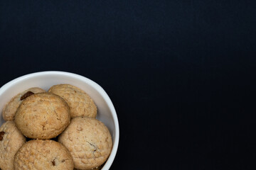
<path id="1" fill-rule="evenodd" d="M 14 122 L 23 135 L 47 140 L 60 135 L 70 123 L 70 108 L 55 94 L 33 94 L 18 107 Z"/>

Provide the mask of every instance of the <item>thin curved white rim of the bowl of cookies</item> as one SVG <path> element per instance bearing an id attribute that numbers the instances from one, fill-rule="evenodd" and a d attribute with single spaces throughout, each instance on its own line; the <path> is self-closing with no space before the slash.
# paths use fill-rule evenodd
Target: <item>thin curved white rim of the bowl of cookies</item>
<path id="1" fill-rule="evenodd" d="M 107 105 L 110 107 L 110 111 L 112 113 L 112 118 L 114 120 L 114 130 L 115 130 L 115 132 L 114 132 L 115 136 L 114 136 L 114 139 L 113 139 L 114 140 L 113 141 L 114 145 L 112 146 L 112 151 L 110 153 L 110 157 L 108 157 L 107 162 L 103 166 L 102 170 L 110 169 L 110 166 L 114 162 L 114 157 L 117 154 L 117 148 L 118 148 L 118 145 L 119 145 L 119 123 L 118 123 L 117 113 L 114 109 L 114 105 L 113 105 L 110 97 L 107 95 L 106 91 L 99 84 L 95 83 L 95 81 L 92 81 L 91 79 L 88 79 L 87 77 L 83 77 L 79 74 L 74 74 L 74 73 L 71 73 L 71 72 L 62 72 L 62 71 L 34 72 L 34 73 L 31 73 L 31 74 L 25 74 L 21 77 L 17 77 L 16 79 L 13 79 L 13 80 L 7 82 L 6 84 L 4 84 L 3 86 L 1 86 L 0 96 L 1 96 L 1 94 L 4 93 L 4 91 L 6 89 L 9 88 L 9 86 L 11 86 L 13 84 L 16 84 L 18 81 L 22 81 L 23 79 L 30 79 L 32 77 L 38 77 L 38 76 L 42 76 L 42 75 L 51 75 L 51 74 L 74 77 L 75 79 L 80 79 L 81 81 L 85 81 L 87 84 L 94 87 L 102 95 L 102 98 L 104 98 Z"/>

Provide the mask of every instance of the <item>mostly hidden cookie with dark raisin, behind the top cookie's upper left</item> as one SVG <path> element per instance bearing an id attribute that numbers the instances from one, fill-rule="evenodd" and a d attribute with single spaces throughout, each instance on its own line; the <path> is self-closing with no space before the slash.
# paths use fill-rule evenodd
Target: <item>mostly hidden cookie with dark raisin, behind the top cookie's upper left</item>
<path id="1" fill-rule="evenodd" d="M 21 92 L 20 94 L 17 94 L 14 96 L 14 98 L 11 98 L 11 101 L 6 104 L 6 106 L 3 109 L 3 118 L 4 120 L 14 120 L 14 115 L 17 111 L 18 106 L 20 106 L 21 102 L 23 99 L 26 97 L 32 95 L 32 94 L 38 94 L 38 93 L 43 93 L 46 92 L 43 89 L 40 89 L 38 87 L 33 87 L 31 89 L 27 89 L 26 91 Z"/>

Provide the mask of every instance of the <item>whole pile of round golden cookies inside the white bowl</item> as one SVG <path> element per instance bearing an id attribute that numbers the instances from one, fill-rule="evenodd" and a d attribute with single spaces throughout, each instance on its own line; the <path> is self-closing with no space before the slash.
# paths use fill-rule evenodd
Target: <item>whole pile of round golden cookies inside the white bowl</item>
<path id="1" fill-rule="evenodd" d="M 92 98 L 76 86 L 28 89 L 12 98 L 2 115 L 2 170 L 100 169 L 110 155 L 110 132 L 96 119 Z"/>

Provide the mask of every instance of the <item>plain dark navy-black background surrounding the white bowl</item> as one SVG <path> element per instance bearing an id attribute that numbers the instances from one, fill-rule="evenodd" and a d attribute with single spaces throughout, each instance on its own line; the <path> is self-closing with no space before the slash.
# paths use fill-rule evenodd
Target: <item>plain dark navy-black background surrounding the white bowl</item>
<path id="1" fill-rule="evenodd" d="M 255 1 L 1 1 L 0 86 L 96 81 L 117 110 L 111 169 L 255 169 Z"/>

